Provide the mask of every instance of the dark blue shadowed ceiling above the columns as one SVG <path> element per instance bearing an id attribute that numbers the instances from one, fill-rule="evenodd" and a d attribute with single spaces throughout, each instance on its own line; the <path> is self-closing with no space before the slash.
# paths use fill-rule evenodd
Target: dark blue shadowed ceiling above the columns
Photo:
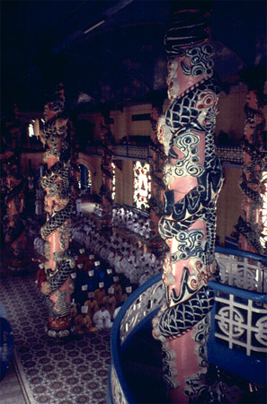
<path id="1" fill-rule="evenodd" d="M 175 8 L 212 4 L 216 71 L 233 80 L 265 65 L 265 1 L 2 0 L 1 111 L 43 109 L 51 80 L 70 108 L 151 100 L 166 92 L 164 35 Z M 6 113 L 6 112 L 5 112 Z"/>

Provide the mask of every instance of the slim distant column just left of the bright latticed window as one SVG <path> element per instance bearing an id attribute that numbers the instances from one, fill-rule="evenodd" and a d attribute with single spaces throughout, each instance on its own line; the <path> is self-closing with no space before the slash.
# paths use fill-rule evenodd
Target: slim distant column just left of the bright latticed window
<path id="1" fill-rule="evenodd" d="M 111 229 L 112 220 L 112 134 L 110 128 L 110 115 L 102 114 L 101 129 L 102 129 L 102 186 L 100 195 L 102 196 L 102 229 Z"/>

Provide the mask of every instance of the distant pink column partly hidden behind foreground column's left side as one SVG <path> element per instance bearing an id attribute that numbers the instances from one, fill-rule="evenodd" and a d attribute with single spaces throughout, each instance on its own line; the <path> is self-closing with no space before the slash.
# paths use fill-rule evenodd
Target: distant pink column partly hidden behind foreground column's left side
<path id="1" fill-rule="evenodd" d="M 150 122 L 152 126 L 152 159 L 150 161 L 150 175 L 151 175 L 151 198 L 149 199 L 150 219 L 153 226 L 152 237 L 150 237 L 149 244 L 152 250 L 159 252 L 162 250 L 163 240 L 158 233 L 158 223 L 164 211 L 164 191 L 165 181 L 164 165 L 165 165 L 165 151 L 157 138 L 157 125 L 162 115 L 162 105 L 152 105 Z"/>

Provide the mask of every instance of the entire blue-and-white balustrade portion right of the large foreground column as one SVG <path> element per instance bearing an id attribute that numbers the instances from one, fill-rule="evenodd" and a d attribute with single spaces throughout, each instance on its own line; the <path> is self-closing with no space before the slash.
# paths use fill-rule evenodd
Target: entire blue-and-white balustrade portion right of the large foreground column
<path id="1" fill-rule="evenodd" d="M 209 363 L 250 382 L 266 383 L 267 257 L 218 247 L 220 283 L 208 341 Z M 253 369 L 253 372 L 252 372 Z"/>

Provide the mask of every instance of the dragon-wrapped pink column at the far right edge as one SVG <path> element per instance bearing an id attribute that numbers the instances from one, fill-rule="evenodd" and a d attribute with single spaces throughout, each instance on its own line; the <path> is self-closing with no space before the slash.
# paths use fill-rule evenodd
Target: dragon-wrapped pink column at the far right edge
<path id="1" fill-rule="evenodd" d="M 236 230 L 239 233 L 239 249 L 257 254 L 267 254 L 266 237 L 263 236 L 263 169 L 267 164 L 266 150 L 263 150 L 263 83 L 261 72 L 250 70 L 245 80 L 248 93 L 245 104 L 245 130 L 241 140 L 244 150 L 244 164 L 240 188 L 244 193 L 242 215 L 238 218 Z M 252 83 L 251 83 L 252 82 Z M 262 82 L 262 83 L 261 83 Z M 256 85 L 258 84 L 258 85 Z"/>

